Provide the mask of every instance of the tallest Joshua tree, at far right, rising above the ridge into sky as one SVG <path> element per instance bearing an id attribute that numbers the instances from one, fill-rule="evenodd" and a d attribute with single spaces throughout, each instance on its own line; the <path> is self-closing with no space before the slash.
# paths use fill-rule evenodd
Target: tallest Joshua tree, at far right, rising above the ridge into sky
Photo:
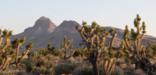
<path id="1" fill-rule="evenodd" d="M 145 22 L 141 23 L 141 18 L 139 15 L 134 19 L 134 27 L 136 29 L 128 29 L 128 26 L 125 27 L 124 32 L 124 43 L 125 51 L 131 60 L 132 63 L 136 65 L 136 68 L 141 68 L 147 74 L 152 75 L 153 71 L 152 64 L 149 61 L 149 58 L 146 55 L 146 48 L 142 45 L 142 38 L 146 33 Z"/>

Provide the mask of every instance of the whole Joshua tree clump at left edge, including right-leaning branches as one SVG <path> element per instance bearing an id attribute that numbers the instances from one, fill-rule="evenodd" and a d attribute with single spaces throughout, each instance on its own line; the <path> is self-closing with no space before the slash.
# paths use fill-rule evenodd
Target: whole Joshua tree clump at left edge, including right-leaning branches
<path id="1" fill-rule="evenodd" d="M 0 71 L 6 70 L 12 64 L 18 66 L 20 62 L 28 55 L 32 44 L 26 45 L 22 55 L 19 49 L 24 43 L 24 39 L 15 39 L 11 41 L 12 31 L 0 30 Z"/>

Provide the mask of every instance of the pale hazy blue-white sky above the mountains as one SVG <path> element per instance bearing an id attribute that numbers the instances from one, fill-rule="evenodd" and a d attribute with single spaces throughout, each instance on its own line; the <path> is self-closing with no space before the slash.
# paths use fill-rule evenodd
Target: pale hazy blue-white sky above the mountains
<path id="1" fill-rule="evenodd" d="M 20 33 L 41 16 L 59 25 L 63 20 L 96 21 L 103 26 L 133 25 L 136 14 L 156 36 L 156 0 L 0 0 L 0 27 Z"/>

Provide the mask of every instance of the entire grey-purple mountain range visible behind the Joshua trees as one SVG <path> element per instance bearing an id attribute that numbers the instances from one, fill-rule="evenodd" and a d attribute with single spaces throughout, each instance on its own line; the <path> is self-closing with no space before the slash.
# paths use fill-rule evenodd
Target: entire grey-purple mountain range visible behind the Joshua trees
<path id="1" fill-rule="evenodd" d="M 56 26 L 49 18 L 40 17 L 34 24 L 33 27 L 29 27 L 24 30 L 24 32 L 14 35 L 14 38 L 26 38 L 26 43 L 32 42 L 34 48 L 44 48 L 48 43 L 52 43 L 53 46 L 59 47 L 64 37 L 68 37 L 72 40 L 74 47 L 79 47 L 82 41 L 79 33 L 75 29 L 76 26 L 81 26 L 79 23 L 73 20 L 65 20 L 59 26 Z M 114 27 L 103 27 L 107 31 Z M 115 46 L 119 46 L 120 40 L 123 36 L 123 30 L 119 28 L 114 28 L 118 35 L 115 38 Z M 110 37 L 107 38 L 107 41 Z M 143 44 L 148 45 L 149 43 L 156 43 L 156 38 L 152 36 L 144 36 Z M 109 42 L 107 42 L 109 43 Z"/>

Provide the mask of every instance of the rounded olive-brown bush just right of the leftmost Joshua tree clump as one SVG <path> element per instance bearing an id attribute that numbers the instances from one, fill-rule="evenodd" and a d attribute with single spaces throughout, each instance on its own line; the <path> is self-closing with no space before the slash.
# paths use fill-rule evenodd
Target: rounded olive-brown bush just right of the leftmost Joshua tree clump
<path id="1" fill-rule="evenodd" d="M 43 53 L 42 53 L 43 52 Z M 55 65 L 55 56 L 48 53 L 48 50 L 35 50 L 30 53 L 30 59 L 26 60 L 26 69 L 34 74 L 53 74 L 53 66 Z"/>

